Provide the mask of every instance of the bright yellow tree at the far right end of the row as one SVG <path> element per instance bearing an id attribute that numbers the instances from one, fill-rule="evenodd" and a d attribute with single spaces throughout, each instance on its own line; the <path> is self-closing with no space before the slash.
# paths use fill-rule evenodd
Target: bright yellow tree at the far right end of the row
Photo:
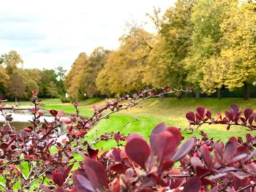
<path id="1" fill-rule="evenodd" d="M 223 10 L 222 23 L 219 24 L 222 34 L 217 43 L 219 54 L 206 60 L 200 85 L 206 93 L 213 93 L 215 88 L 223 86 L 230 91 L 244 86 L 247 99 L 248 84 L 256 77 L 256 4 L 252 1 L 241 4 L 235 0 L 225 2 L 222 9 L 227 8 Z"/>

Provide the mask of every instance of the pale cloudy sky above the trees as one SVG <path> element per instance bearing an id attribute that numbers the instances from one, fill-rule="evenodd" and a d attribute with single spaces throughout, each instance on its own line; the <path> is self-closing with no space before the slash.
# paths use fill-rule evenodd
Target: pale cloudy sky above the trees
<path id="1" fill-rule="evenodd" d="M 23 68 L 69 70 L 79 53 L 116 49 L 125 23 L 150 23 L 146 13 L 163 13 L 174 1 L 0 0 L 0 55 L 16 50 Z"/>

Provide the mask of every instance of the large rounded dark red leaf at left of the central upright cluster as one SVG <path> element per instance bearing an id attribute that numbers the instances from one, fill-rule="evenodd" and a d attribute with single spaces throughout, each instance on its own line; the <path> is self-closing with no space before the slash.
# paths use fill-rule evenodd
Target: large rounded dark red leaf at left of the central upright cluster
<path id="1" fill-rule="evenodd" d="M 134 138 L 129 140 L 127 145 L 125 145 L 125 153 L 127 153 L 132 161 L 135 161 L 136 164 L 139 164 L 146 170 L 146 161 L 150 155 L 150 147 L 144 139 Z"/>

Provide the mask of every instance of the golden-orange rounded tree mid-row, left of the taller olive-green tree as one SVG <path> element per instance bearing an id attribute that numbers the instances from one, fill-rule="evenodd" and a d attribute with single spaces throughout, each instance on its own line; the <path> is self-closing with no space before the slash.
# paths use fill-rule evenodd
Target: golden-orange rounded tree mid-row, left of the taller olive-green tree
<path id="1" fill-rule="evenodd" d="M 119 41 L 118 50 L 110 53 L 97 77 L 97 88 L 103 94 L 129 93 L 146 85 L 143 76 L 148 55 L 153 49 L 153 35 L 143 28 L 132 26 Z"/>

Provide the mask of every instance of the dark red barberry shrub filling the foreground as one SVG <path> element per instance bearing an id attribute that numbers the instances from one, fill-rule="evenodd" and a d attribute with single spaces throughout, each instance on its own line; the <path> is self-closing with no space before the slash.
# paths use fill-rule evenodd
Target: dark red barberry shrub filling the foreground
<path id="1" fill-rule="evenodd" d="M 200 138 L 184 141 L 179 128 L 160 123 L 151 131 L 149 142 L 140 134 L 124 136 L 120 132 L 86 139 L 99 120 L 146 99 L 181 91 L 153 88 L 116 101 L 106 100 L 105 106 L 94 107 L 89 118 L 79 115 L 79 103 L 75 101 L 75 116 L 61 119 L 63 111 L 50 110 L 52 122 L 40 122 L 41 100 L 33 91 L 33 119 L 31 126 L 22 131 L 10 126 L 12 114 L 1 106 L 6 120 L 0 129 L 0 172 L 4 176 L 1 191 L 255 191 L 253 134 L 246 134 L 246 140 L 230 137 L 224 144 L 200 131 Z M 186 117 L 189 131 L 203 124 L 223 124 L 227 130 L 241 126 L 252 133 L 256 129 L 256 113 L 252 109 L 239 111 L 236 104 L 223 117 L 218 113 L 214 118 L 204 107 L 197 107 Z M 67 128 L 59 131 L 63 126 Z M 94 149 L 97 142 L 108 139 L 115 139 L 117 147 L 108 151 Z"/>

